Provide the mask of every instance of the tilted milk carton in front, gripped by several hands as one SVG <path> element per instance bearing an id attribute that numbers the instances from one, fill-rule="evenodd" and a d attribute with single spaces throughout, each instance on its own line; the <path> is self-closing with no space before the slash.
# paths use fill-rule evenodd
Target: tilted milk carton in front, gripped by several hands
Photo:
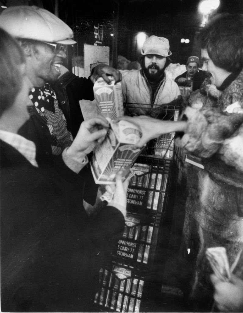
<path id="1" fill-rule="evenodd" d="M 97 184 L 112 184 L 116 173 L 122 170 L 123 178 L 129 176 L 130 167 L 141 152 L 136 143 L 142 136 L 138 126 L 127 121 L 110 122 L 105 140 L 97 146 L 90 162 Z"/>

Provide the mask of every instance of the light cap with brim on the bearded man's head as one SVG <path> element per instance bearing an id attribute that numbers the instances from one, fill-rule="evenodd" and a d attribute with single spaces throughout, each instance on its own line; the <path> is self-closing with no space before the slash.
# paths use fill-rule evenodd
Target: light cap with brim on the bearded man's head
<path id="1" fill-rule="evenodd" d="M 162 57 L 168 57 L 172 54 L 170 51 L 169 40 L 164 37 L 150 36 L 145 40 L 141 49 L 141 54 L 157 54 Z"/>

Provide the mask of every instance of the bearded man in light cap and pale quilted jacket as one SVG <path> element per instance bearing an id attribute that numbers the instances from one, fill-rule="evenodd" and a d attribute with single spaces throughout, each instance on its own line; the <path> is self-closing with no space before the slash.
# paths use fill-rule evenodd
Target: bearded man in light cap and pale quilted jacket
<path id="1" fill-rule="evenodd" d="M 177 84 L 165 74 L 171 55 L 168 39 L 150 36 L 141 54 L 141 69 L 122 73 L 123 102 L 130 115 L 151 115 L 151 110 L 180 96 Z"/>

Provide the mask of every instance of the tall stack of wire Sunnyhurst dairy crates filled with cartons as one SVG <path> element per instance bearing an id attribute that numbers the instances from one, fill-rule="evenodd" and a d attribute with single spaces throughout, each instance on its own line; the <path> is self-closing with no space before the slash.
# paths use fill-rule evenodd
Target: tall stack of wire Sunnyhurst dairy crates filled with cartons
<path id="1" fill-rule="evenodd" d="M 98 89 L 94 85 L 95 99 L 101 114 L 111 120 L 117 114 L 122 115 L 121 110 L 115 112 L 116 104 L 107 104 L 107 98 L 98 90 L 104 97 L 100 103 L 101 97 L 97 98 L 96 90 Z M 119 107 L 121 108 L 120 104 Z M 112 115 L 110 112 L 113 112 Z M 176 120 L 178 113 L 176 110 L 171 112 L 171 119 Z M 135 163 L 133 162 L 133 176 L 127 190 L 125 228 L 110 262 L 100 269 L 100 286 L 94 299 L 97 311 L 139 312 L 142 309 L 143 291 L 149 288 L 146 275 L 153 269 L 156 260 L 168 203 L 174 149 L 173 134 L 170 136 L 161 136 L 154 141 L 152 154 L 143 152 L 138 156 L 139 151 Z"/>

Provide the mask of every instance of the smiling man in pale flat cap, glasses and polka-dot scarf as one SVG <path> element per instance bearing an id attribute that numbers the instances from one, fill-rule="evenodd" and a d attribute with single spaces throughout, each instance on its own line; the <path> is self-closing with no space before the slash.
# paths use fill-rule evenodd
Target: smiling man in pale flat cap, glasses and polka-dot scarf
<path id="1" fill-rule="evenodd" d="M 12 6 L 0 15 L 0 27 L 16 38 L 24 51 L 26 72 L 33 88 L 28 107 L 30 119 L 20 128 L 19 135 L 33 141 L 37 146 L 36 160 L 39 165 L 57 166 L 59 155 L 74 163 L 77 171 L 82 169 L 87 186 L 85 200 L 94 204 L 97 187 L 93 182 L 86 151 L 77 162 L 79 147 L 73 144 L 83 121 L 79 100 L 93 100 L 93 83 L 102 76 L 108 80 L 112 74 L 115 81 L 121 73 L 106 65 L 98 65 L 90 78 L 78 77 L 67 71 L 63 74 L 67 45 L 75 44 L 72 29 L 51 12 L 36 6 Z M 69 147 L 69 148 L 67 148 Z M 79 151 L 80 152 L 80 151 Z M 95 193 L 90 195 L 89 192 Z"/>

